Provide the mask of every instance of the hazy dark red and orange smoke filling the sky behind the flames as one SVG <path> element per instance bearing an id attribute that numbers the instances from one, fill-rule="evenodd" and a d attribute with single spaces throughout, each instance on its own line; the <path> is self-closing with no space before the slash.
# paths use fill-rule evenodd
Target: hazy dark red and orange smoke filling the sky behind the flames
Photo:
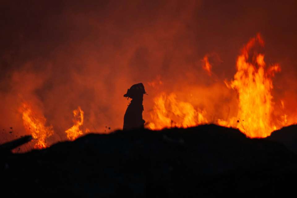
<path id="1" fill-rule="evenodd" d="M 149 94 L 144 96 L 145 120 L 161 92 L 175 92 L 209 112 L 211 121 L 236 115 L 236 94 L 223 80 L 233 77 L 239 50 L 257 32 L 265 40 L 266 62 L 282 67 L 274 79 L 275 100 L 284 99 L 287 113 L 293 114 L 296 6 L 296 1 L 3 3 L 1 141 L 12 138 L 9 127 L 14 136 L 26 134 L 22 102 L 53 126 L 51 143 L 66 140 L 78 106 L 84 111 L 82 127 L 119 129 L 128 104 L 123 94 L 139 82 Z M 201 67 L 205 54 L 220 60 L 212 64 L 211 77 Z M 158 78 L 162 84 L 151 86 Z"/>

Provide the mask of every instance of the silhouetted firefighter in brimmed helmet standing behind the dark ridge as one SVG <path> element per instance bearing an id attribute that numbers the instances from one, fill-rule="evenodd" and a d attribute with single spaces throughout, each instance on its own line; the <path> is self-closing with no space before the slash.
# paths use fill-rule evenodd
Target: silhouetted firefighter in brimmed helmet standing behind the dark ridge
<path id="1" fill-rule="evenodd" d="M 134 84 L 124 97 L 132 98 L 131 103 L 128 105 L 124 116 L 123 130 L 130 130 L 135 128 L 144 128 L 144 119 L 142 119 L 143 111 L 143 95 L 145 94 L 144 86 L 142 83 Z"/>

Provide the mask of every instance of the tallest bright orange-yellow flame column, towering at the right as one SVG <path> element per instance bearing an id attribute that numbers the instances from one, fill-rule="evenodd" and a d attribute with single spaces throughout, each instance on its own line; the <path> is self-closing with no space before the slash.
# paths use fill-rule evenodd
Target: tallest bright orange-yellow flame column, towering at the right
<path id="1" fill-rule="evenodd" d="M 239 97 L 239 130 L 248 137 L 266 137 L 276 129 L 271 119 L 274 105 L 271 76 L 280 71 L 280 67 L 273 65 L 265 70 L 263 54 L 257 54 L 256 58 L 252 57 L 249 62 L 249 51 L 256 43 L 264 45 L 260 34 L 248 42 L 237 58 L 237 72 L 231 81 L 231 87 Z"/>

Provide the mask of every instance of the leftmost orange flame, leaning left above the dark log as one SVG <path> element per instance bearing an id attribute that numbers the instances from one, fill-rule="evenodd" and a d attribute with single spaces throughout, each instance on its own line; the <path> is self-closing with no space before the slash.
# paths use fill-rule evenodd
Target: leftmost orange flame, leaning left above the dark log
<path id="1" fill-rule="evenodd" d="M 46 127 L 46 119 L 43 115 L 36 115 L 31 107 L 25 103 L 22 104 L 22 118 L 26 131 L 32 135 L 34 139 L 37 140 L 35 144 L 35 149 L 43 149 L 47 147 L 45 139 L 54 134 L 53 127 Z"/>

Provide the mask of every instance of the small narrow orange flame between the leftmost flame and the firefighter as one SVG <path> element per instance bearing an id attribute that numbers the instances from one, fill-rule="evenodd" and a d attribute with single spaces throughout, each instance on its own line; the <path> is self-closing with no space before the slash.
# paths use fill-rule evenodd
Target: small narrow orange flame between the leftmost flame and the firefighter
<path id="1" fill-rule="evenodd" d="M 75 140 L 83 134 L 83 131 L 80 130 L 80 126 L 84 123 L 84 111 L 81 110 L 80 106 L 73 110 L 73 116 L 74 125 L 65 131 L 68 140 Z"/>

